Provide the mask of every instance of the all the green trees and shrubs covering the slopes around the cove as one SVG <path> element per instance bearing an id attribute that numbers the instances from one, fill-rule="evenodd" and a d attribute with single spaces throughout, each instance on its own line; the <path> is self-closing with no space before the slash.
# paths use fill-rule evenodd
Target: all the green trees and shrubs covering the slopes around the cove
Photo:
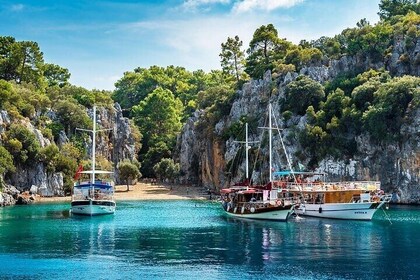
<path id="1" fill-rule="evenodd" d="M 176 139 L 193 114 L 201 116 L 195 124 L 201 137 L 230 137 L 237 124 L 217 136 L 214 126 L 229 114 L 237 90 L 249 78 L 261 79 L 270 70 L 277 79 L 307 66 L 330 66 L 331 59 L 344 56 L 369 67 L 349 69 L 324 84 L 301 75 L 285 88 L 285 122 L 296 115 L 307 119 L 306 127 L 296 131 L 304 148 L 300 155 L 310 158 L 311 165 L 326 155 L 350 158 L 357 150 L 356 137 L 363 134 L 378 145 L 401 141 L 400 127 L 420 105 L 419 78 L 369 68 L 378 63 L 388 67 L 395 48 L 405 72 L 419 67 L 420 56 L 410 55 L 420 37 L 419 5 L 415 0 L 382 0 L 377 24 L 361 19 L 336 36 L 298 45 L 281 38 L 273 24 L 262 25 L 247 49 L 238 36 L 221 43 L 222 71 L 136 68 L 124 73 L 113 92 L 71 85 L 69 71 L 44 62 L 36 42 L 0 36 L 0 110 L 11 119 L 0 135 L 0 179 L 16 167 L 44 164 L 47 172 L 63 172 L 70 188 L 77 165 L 86 157 L 88 136 L 75 134 L 76 127 L 91 126 L 86 108 L 118 102 L 138 128 L 132 130 L 135 138 L 141 139 L 141 164 L 120 162 L 123 178 L 138 177 L 137 167 L 146 177 L 173 180 L 179 173 L 179 165 L 171 160 Z M 51 144 L 41 147 L 38 131 Z M 63 133 L 69 142 L 59 144 Z"/>

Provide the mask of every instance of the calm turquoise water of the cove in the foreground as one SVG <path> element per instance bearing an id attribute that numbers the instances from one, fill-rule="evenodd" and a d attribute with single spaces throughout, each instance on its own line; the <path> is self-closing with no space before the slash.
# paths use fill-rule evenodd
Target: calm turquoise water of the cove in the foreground
<path id="1" fill-rule="evenodd" d="M 420 279 L 420 208 L 371 222 L 225 217 L 208 201 L 0 208 L 0 279 Z"/>

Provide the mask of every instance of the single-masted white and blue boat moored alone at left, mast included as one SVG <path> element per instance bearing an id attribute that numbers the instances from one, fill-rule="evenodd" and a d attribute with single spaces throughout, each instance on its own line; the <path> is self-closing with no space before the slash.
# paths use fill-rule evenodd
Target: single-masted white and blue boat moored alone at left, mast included
<path id="1" fill-rule="evenodd" d="M 93 107 L 93 130 L 78 129 L 92 133 L 92 170 L 79 171 L 79 174 L 88 174 L 89 181 L 77 181 L 73 186 L 71 213 L 75 215 L 106 215 L 114 214 L 116 203 L 114 200 L 114 183 L 112 180 L 97 180 L 97 174 L 111 175 L 113 172 L 95 169 L 95 140 L 96 133 L 96 107 Z"/>

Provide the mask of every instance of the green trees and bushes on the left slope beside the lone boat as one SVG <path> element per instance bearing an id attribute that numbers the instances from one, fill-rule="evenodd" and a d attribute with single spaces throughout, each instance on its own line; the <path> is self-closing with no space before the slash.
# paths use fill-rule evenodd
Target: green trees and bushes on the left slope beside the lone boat
<path id="1" fill-rule="evenodd" d="M 69 78 L 67 69 L 44 62 L 36 42 L 0 36 L 0 183 L 11 172 L 43 164 L 47 173 L 62 172 L 70 191 L 89 141 L 75 129 L 91 127 L 87 108 L 114 101 L 110 92 L 73 86 Z M 60 134 L 69 142 L 56 144 Z"/>

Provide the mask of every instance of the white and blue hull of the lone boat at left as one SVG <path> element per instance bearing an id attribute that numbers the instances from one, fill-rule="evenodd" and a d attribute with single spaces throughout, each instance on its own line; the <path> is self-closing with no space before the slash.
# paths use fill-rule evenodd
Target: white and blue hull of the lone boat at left
<path id="1" fill-rule="evenodd" d="M 75 215 L 97 216 L 114 214 L 116 203 L 110 200 L 77 200 L 71 203 Z"/>

